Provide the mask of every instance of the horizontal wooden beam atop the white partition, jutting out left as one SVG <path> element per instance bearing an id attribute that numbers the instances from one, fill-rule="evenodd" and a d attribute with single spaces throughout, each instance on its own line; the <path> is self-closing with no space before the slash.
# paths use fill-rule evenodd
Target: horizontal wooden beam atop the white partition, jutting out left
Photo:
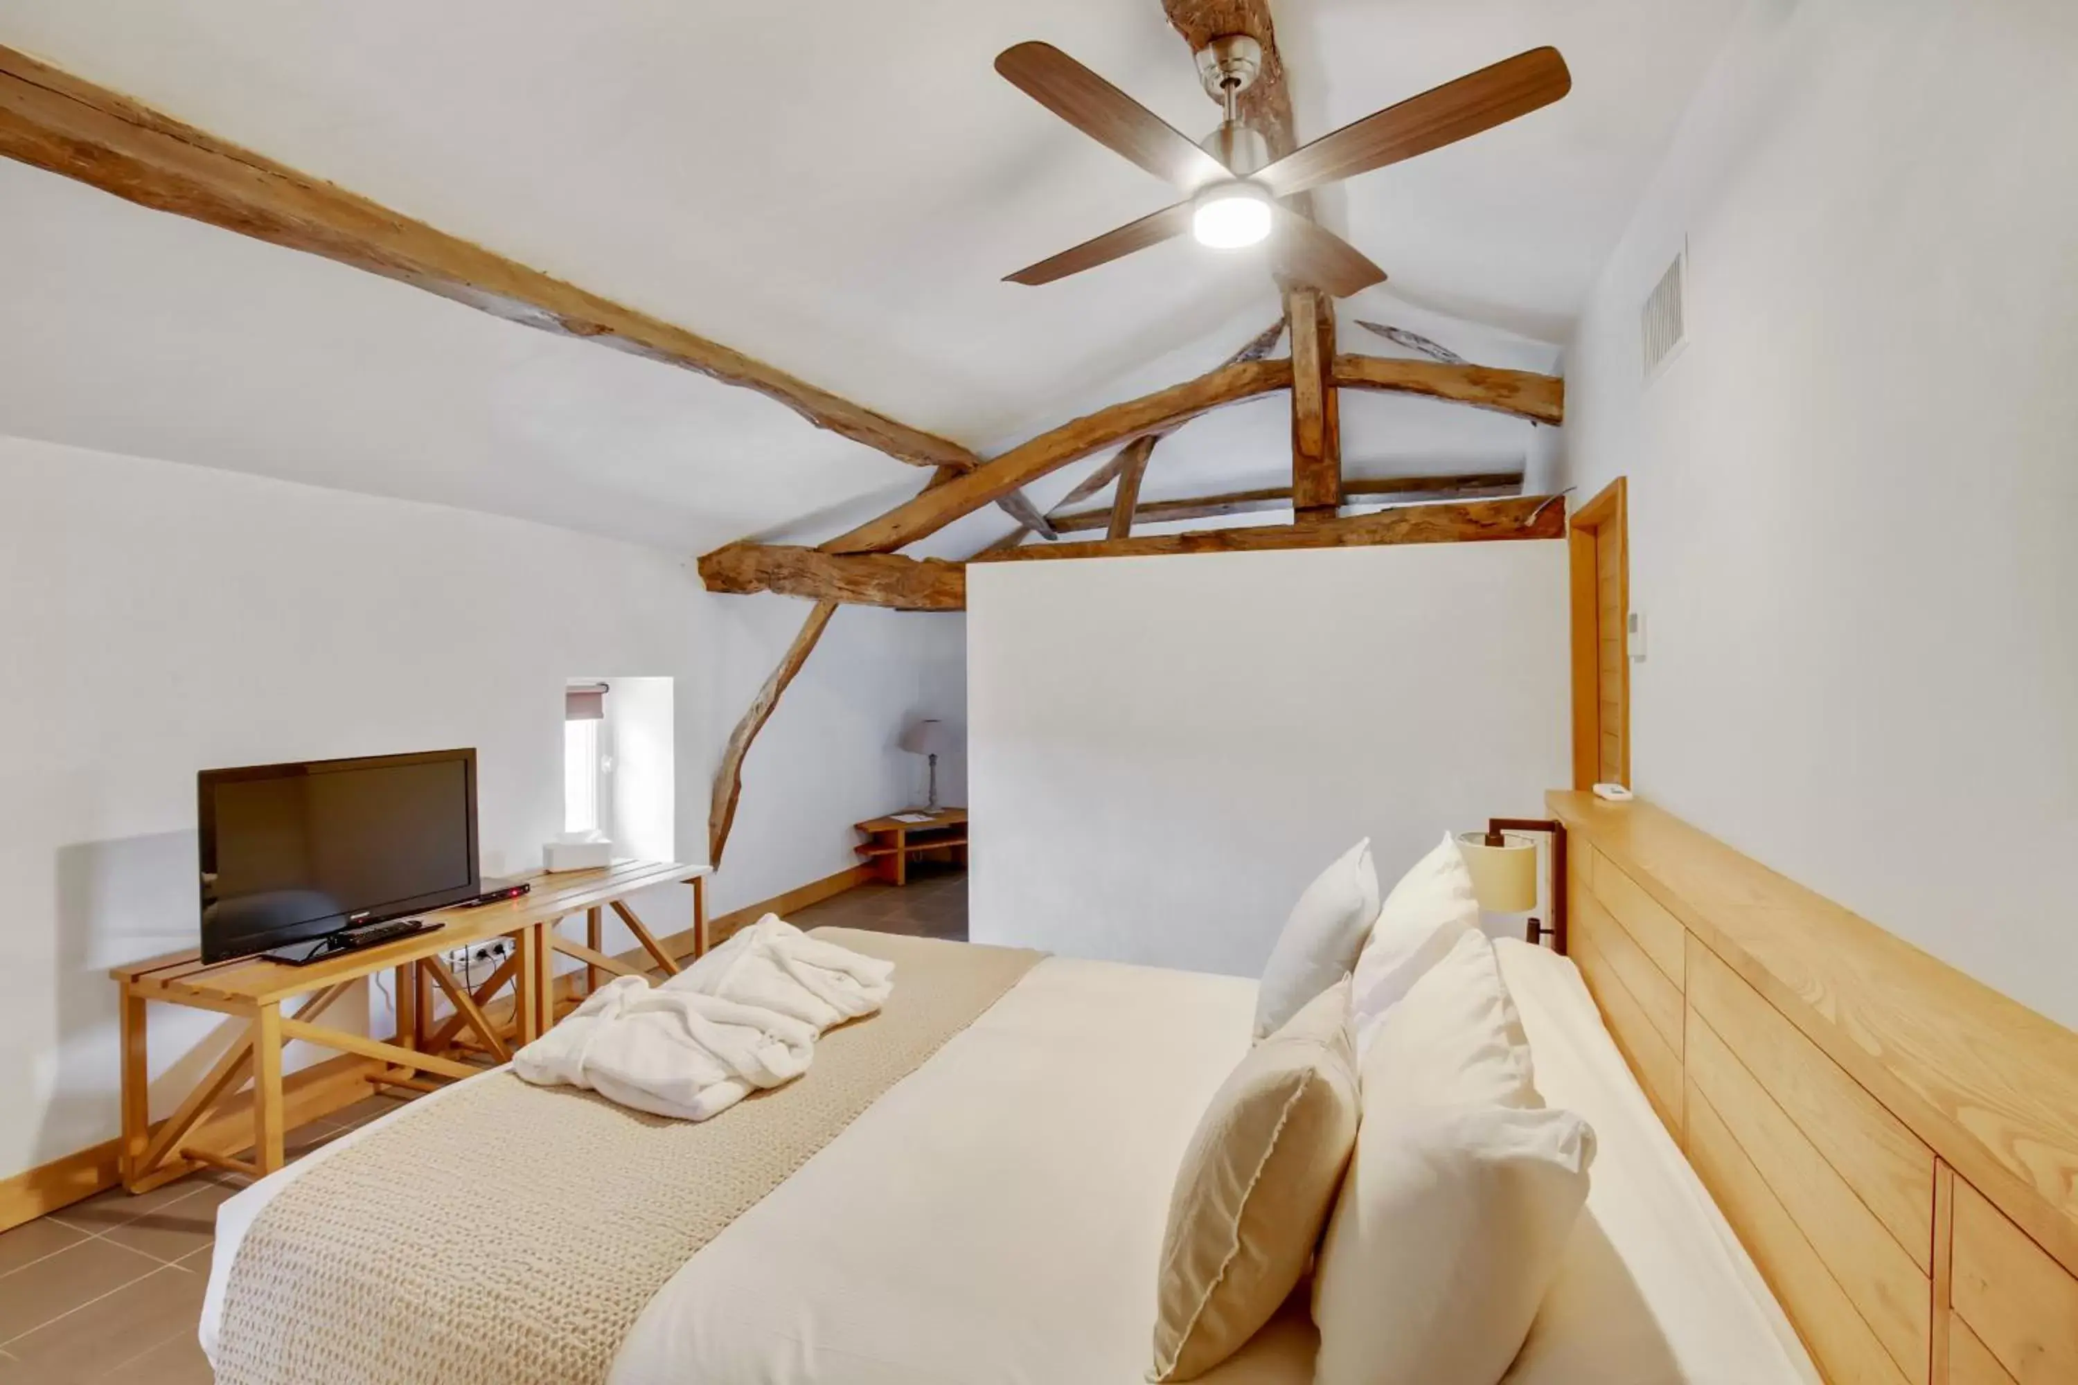
<path id="1" fill-rule="evenodd" d="M 902 610 L 964 610 L 966 569 L 979 563 L 1563 538 L 1565 515 L 1558 513 L 1558 505 L 1546 505 L 1546 498 L 1407 505 L 1371 515 L 1344 515 L 1309 523 L 1010 548 L 968 563 L 906 559 L 896 552 L 848 554 L 819 548 L 734 544 L 700 559 L 700 577 L 713 592 L 785 590 L 802 594 L 821 590 L 825 604 L 848 600 Z"/>

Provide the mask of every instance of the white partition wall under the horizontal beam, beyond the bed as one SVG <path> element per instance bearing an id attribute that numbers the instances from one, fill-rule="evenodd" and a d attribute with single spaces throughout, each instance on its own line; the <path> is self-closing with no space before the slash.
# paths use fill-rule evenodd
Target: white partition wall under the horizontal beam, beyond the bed
<path id="1" fill-rule="evenodd" d="M 1257 974 L 1359 837 L 1542 816 L 1565 598 L 1558 542 L 975 567 L 973 936 Z"/>

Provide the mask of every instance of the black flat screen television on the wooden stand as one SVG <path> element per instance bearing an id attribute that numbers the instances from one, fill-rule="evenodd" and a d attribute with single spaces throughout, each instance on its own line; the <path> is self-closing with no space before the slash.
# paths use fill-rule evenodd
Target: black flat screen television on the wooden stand
<path id="1" fill-rule="evenodd" d="M 476 750 L 195 775 L 202 959 L 476 899 Z"/>

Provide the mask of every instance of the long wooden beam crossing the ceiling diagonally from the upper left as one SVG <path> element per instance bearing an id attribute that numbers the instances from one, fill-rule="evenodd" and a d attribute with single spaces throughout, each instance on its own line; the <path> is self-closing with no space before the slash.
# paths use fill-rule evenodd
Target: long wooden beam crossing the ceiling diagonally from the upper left
<path id="1" fill-rule="evenodd" d="M 0 48 L 0 154 L 145 208 L 324 255 L 457 303 L 698 372 L 921 467 L 979 457 L 686 328 L 586 293 L 366 197 Z"/>

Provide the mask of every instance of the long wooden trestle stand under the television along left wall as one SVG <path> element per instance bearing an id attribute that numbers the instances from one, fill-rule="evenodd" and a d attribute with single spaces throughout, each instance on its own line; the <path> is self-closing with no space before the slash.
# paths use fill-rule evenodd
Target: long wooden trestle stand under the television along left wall
<path id="1" fill-rule="evenodd" d="M 112 968 L 123 988 L 123 1186 L 150 1192 L 208 1165 L 247 1177 L 264 1177 L 283 1165 L 283 1071 L 281 1051 L 291 1040 L 357 1055 L 370 1061 L 368 1082 L 430 1090 L 428 1078 L 474 1078 L 484 1071 L 463 1055 L 511 1061 L 515 1047 L 532 1042 L 555 1024 L 555 953 L 578 957 L 598 970 L 634 968 L 598 951 L 603 912 L 611 907 L 642 947 L 669 972 L 667 955 L 642 920 L 628 907 L 628 895 L 655 885 L 688 882 L 694 889 L 694 955 L 707 947 L 707 866 L 682 862 L 615 862 L 601 870 L 569 870 L 532 876 L 534 889 L 520 899 L 474 909 L 426 914 L 441 928 L 416 932 L 395 943 L 355 953 L 287 966 L 264 957 L 237 957 L 206 966 L 197 951 L 170 953 Z M 557 936 L 555 924 L 584 914 L 588 943 Z M 507 936 L 513 955 L 480 986 L 465 986 L 447 968 L 445 955 L 457 947 Z M 397 974 L 397 1036 L 370 1038 L 320 1026 L 318 1017 L 353 982 L 380 972 Z M 432 986 L 447 993 L 455 1013 L 432 1028 Z M 492 997 L 511 986 L 511 1017 L 486 1013 Z M 179 1109 L 158 1125 L 150 1119 L 150 1061 L 145 1049 L 145 1007 L 152 1001 L 212 1009 L 245 1020 L 245 1034 L 204 1074 Z M 295 1001 L 299 1007 L 289 1009 Z M 237 1094 L 251 1074 L 251 1157 L 189 1140 L 206 1117 Z"/>

